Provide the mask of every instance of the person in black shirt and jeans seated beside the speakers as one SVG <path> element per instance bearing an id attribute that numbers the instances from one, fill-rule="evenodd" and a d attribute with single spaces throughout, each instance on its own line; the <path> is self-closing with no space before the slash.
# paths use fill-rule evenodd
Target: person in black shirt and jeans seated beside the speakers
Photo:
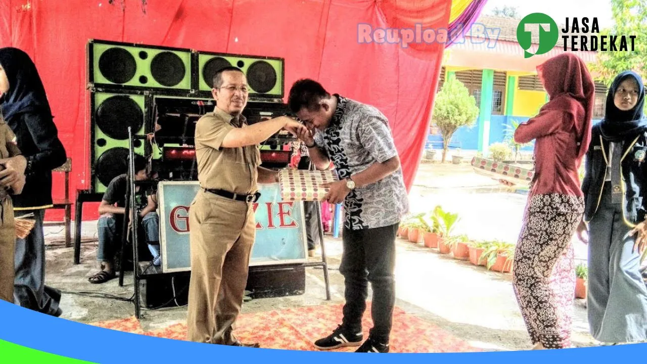
<path id="1" fill-rule="evenodd" d="M 135 181 L 149 178 L 146 172 L 146 159 L 135 156 Z M 99 205 L 101 215 L 97 223 L 99 249 L 96 258 L 99 261 L 100 272 L 88 280 L 91 283 L 104 283 L 115 278 L 115 253 L 121 245 L 121 227 L 124 221 L 126 207 L 126 174 L 115 177 L 105 190 L 104 198 Z M 153 254 L 153 264 L 159 266 L 159 216 L 157 216 L 157 199 L 150 189 L 137 186 L 135 188 L 135 205 L 141 219 L 146 242 Z"/>

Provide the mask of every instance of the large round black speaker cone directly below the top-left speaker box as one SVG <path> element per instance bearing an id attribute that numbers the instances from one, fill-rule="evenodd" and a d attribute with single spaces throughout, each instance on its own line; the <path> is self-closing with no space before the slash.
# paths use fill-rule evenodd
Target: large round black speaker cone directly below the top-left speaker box
<path id="1" fill-rule="evenodd" d="M 108 137 L 124 140 L 128 139 L 129 126 L 133 135 L 142 128 L 144 113 L 132 98 L 113 96 L 96 109 L 96 125 Z"/>

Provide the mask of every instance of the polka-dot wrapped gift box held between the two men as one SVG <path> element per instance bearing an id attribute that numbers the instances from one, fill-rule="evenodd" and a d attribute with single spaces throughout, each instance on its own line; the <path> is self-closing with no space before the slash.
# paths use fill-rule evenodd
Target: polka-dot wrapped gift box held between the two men
<path id="1" fill-rule="evenodd" d="M 279 172 L 281 198 L 283 201 L 322 201 L 329 188 L 324 183 L 337 181 L 331 170 L 292 170 Z"/>

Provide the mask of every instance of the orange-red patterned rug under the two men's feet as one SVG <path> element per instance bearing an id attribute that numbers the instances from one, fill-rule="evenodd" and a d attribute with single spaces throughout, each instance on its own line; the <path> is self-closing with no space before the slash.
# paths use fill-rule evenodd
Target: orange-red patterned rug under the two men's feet
<path id="1" fill-rule="evenodd" d="M 370 302 L 364 314 L 364 337 L 373 326 L 370 319 Z M 309 319 L 305 320 L 304 318 Z M 342 322 L 342 305 L 321 305 L 244 313 L 237 321 L 236 336 L 243 343 L 259 343 L 263 348 L 287 350 L 317 350 L 316 339 L 329 335 Z M 94 326 L 142 334 L 186 339 L 186 324 L 173 324 L 166 328 L 145 332 L 135 317 L 115 321 L 91 323 Z M 339 348 L 334 351 L 352 352 L 356 348 Z M 428 323 L 400 308 L 393 311 L 391 352 L 476 352 L 465 341 Z"/>

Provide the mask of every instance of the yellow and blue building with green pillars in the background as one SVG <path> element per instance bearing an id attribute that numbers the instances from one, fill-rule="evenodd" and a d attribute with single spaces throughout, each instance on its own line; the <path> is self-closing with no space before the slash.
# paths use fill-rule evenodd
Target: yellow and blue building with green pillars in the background
<path id="1" fill-rule="evenodd" d="M 479 150 L 485 154 L 490 144 L 505 139 L 505 130 L 513 120 L 528 120 L 547 102 L 536 66 L 564 53 L 563 39 L 560 36 L 550 52 L 524 58 L 524 51 L 516 40 L 518 25 L 519 19 L 481 16 L 471 31 L 466 32 L 465 40 L 444 51 L 438 89 L 446 78 L 455 76 L 476 98 L 480 110 L 476 126 L 457 130 L 450 147 Z M 487 32 L 483 31 L 485 28 Z M 479 37 L 479 34 L 490 36 Z M 538 39 L 533 39 L 532 43 L 536 47 Z M 587 64 L 596 61 L 597 52 L 573 53 Z M 606 90 L 605 85 L 596 83 L 593 119 L 604 116 Z M 430 135 L 427 144 L 436 148 L 443 142 L 439 135 Z"/>

